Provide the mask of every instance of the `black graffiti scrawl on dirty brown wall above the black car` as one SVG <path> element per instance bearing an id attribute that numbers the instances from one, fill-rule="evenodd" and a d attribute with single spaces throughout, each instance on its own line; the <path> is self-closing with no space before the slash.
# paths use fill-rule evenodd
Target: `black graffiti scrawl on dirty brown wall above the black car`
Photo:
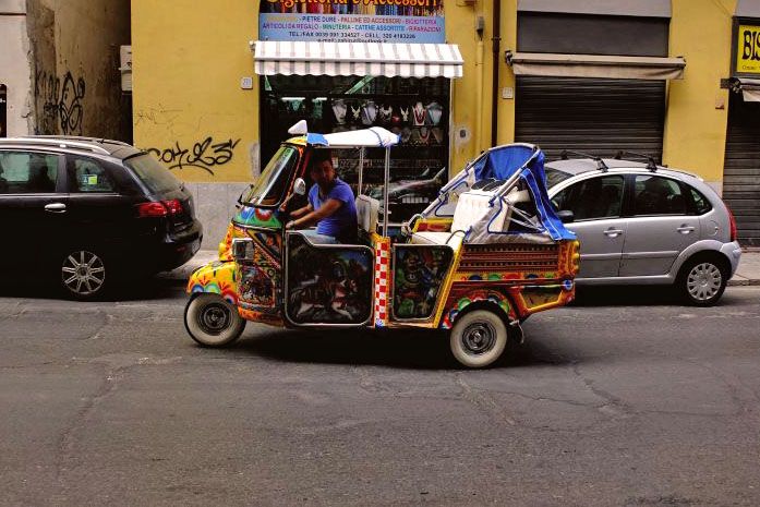
<path id="1" fill-rule="evenodd" d="M 84 77 L 74 79 L 71 72 L 62 79 L 35 72 L 34 93 L 40 109 L 36 133 L 82 135 L 86 88 Z"/>

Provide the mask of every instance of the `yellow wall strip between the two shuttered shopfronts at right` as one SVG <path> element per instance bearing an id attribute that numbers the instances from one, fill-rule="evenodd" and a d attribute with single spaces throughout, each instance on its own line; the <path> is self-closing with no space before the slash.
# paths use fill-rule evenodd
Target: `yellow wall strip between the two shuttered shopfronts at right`
<path id="1" fill-rule="evenodd" d="M 671 56 L 686 58 L 684 80 L 668 84 L 663 162 L 723 180 L 732 16 L 736 0 L 673 0 Z"/>

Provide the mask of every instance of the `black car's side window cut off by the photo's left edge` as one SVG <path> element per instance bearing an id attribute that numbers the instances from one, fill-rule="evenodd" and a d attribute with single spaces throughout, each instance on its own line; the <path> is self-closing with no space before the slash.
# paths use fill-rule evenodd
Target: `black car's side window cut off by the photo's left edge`
<path id="1" fill-rule="evenodd" d="M 58 155 L 0 152 L 0 194 L 56 192 Z"/>

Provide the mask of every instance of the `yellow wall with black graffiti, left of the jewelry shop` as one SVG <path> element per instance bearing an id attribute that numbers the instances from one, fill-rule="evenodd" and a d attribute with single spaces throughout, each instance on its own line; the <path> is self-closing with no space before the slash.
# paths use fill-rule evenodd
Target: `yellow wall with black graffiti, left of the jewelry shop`
<path id="1" fill-rule="evenodd" d="M 184 181 L 251 181 L 258 97 L 248 41 L 258 2 L 132 1 L 134 144 Z M 254 89 L 241 89 L 243 76 Z"/>

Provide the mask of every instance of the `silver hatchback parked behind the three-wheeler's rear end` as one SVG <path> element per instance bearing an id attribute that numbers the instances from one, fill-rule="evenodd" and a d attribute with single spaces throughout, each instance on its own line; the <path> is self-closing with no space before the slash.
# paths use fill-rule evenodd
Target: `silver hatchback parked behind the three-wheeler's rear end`
<path id="1" fill-rule="evenodd" d="M 736 225 L 699 177 L 619 159 L 546 164 L 548 195 L 580 240 L 579 285 L 671 285 L 715 304 L 741 256 Z"/>

